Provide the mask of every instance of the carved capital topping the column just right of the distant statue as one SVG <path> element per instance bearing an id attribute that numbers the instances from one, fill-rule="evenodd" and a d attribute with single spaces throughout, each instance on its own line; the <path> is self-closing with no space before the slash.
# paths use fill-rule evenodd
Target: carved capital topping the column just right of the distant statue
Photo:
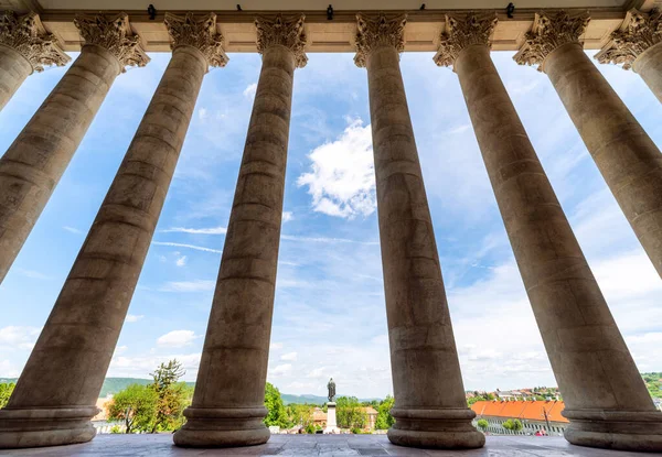
<path id="1" fill-rule="evenodd" d="M 405 50 L 405 25 L 407 14 L 394 18 L 384 13 L 372 17 L 356 14 L 356 66 L 365 67 L 370 53 L 380 46 L 393 46 L 402 53 Z"/>

